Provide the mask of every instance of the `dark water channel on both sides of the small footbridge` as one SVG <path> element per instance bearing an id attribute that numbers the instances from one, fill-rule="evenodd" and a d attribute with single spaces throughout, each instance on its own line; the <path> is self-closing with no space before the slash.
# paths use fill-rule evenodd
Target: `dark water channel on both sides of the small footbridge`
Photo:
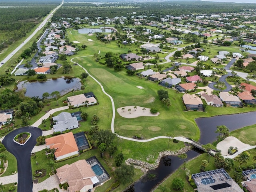
<path id="1" fill-rule="evenodd" d="M 216 140 L 218 134 L 215 133 L 216 126 L 226 125 L 230 131 L 256 124 L 256 111 L 241 113 L 241 114 L 232 114 L 232 115 L 220 115 L 207 118 L 197 118 L 196 124 L 200 129 L 200 140 L 202 144 L 211 143 Z M 190 150 L 186 154 L 190 160 L 197 155 L 202 153 L 200 150 Z M 166 166 L 166 162 L 170 162 Z M 159 182 L 166 178 L 169 174 L 173 173 L 183 161 L 180 160 L 177 156 L 166 156 L 160 160 L 158 168 L 155 170 L 150 170 L 148 174 L 156 174 L 156 180 L 145 180 L 144 178 L 135 182 L 130 189 L 126 192 L 150 192 Z"/>

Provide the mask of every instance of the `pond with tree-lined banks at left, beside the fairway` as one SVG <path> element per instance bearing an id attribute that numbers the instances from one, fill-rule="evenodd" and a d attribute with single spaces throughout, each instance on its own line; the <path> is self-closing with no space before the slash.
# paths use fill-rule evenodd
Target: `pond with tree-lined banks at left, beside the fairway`
<path id="1" fill-rule="evenodd" d="M 22 88 L 26 88 L 25 96 L 34 97 L 39 96 L 42 98 L 42 95 L 45 92 L 51 94 L 54 91 L 60 92 L 60 95 L 67 94 L 68 92 L 74 90 L 80 90 L 81 83 L 79 78 L 57 78 L 57 79 L 49 79 L 45 82 L 19 82 L 17 87 L 18 90 Z M 18 91 L 16 90 L 16 91 Z"/>

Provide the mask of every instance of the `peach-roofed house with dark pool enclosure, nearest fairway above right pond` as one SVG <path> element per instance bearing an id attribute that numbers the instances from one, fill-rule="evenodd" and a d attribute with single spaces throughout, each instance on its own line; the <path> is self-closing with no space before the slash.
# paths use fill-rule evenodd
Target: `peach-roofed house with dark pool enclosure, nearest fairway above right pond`
<path id="1" fill-rule="evenodd" d="M 203 102 L 200 97 L 185 93 L 182 99 L 187 110 L 204 111 Z"/>

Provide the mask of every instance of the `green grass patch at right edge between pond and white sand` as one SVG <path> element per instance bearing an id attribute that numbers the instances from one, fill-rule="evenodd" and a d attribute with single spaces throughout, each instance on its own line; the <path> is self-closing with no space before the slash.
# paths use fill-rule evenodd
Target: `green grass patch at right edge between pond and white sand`
<path id="1" fill-rule="evenodd" d="M 234 136 L 238 138 L 238 140 L 242 141 L 243 143 L 256 145 L 256 134 L 252 134 L 256 131 L 256 124 L 243 127 L 238 130 L 234 130 L 230 132 L 230 136 Z"/>

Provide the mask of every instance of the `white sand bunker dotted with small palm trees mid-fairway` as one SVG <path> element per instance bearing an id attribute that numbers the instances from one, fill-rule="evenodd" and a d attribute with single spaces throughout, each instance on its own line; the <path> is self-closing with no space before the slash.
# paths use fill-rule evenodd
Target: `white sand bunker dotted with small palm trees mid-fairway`
<path id="1" fill-rule="evenodd" d="M 137 106 L 136 111 L 134 110 L 134 105 L 133 106 L 125 106 L 125 107 L 120 107 L 117 109 L 118 114 L 120 114 L 120 116 L 124 117 L 124 118 L 136 118 L 136 117 L 142 117 L 142 116 L 158 116 L 160 113 L 157 112 L 156 114 L 152 114 L 150 112 L 150 108 L 145 108 L 145 107 L 140 107 Z M 122 110 L 122 108 L 124 108 L 124 111 Z M 145 108 L 146 110 L 144 110 L 143 112 L 143 108 Z M 131 109 L 131 113 L 128 111 L 128 109 Z"/>

